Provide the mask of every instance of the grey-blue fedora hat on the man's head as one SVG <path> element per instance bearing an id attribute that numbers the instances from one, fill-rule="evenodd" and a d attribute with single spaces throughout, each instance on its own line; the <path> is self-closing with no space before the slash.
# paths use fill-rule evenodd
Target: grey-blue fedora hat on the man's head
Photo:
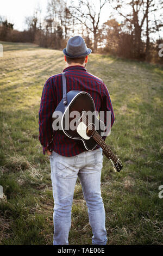
<path id="1" fill-rule="evenodd" d="M 89 55 L 92 52 L 90 48 L 86 47 L 85 41 L 82 36 L 73 36 L 67 42 L 66 48 L 63 53 L 69 58 L 80 58 Z"/>

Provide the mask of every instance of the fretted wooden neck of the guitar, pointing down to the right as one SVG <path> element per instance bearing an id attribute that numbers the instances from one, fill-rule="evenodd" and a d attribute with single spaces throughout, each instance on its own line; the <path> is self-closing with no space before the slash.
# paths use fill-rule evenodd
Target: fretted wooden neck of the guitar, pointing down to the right
<path id="1" fill-rule="evenodd" d="M 111 159 L 115 164 L 118 161 L 117 156 L 111 151 L 109 146 L 104 142 L 103 138 L 99 135 L 97 131 L 94 131 L 92 138 L 95 139 L 97 144 L 103 149 L 103 153 L 108 159 Z"/>

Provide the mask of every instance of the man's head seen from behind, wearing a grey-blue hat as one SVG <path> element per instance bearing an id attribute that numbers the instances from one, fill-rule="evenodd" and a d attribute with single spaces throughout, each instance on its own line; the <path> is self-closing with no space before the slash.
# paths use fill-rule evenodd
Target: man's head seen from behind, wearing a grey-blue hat
<path id="1" fill-rule="evenodd" d="M 65 54 L 65 61 L 67 62 L 67 66 L 86 66 L 87 56 L 92 52 L 92 50 L 87 48 L 84 39 L 77 35 L 68 40 L 67 46 L 64 48 L 63 52 Z"/>

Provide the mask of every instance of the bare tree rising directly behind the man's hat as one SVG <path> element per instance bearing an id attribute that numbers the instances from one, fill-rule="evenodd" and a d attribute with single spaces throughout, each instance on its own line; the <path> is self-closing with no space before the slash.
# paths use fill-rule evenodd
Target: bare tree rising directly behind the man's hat
<path id="1" fill-rule="evenodd" d="M 99 8 L 95 6 L 95 2 L 91 0 L 78 0 L 78 5 L 71 2 L 71 15 L 76 19 L 76 24 L 83 24 L 87 31 L 93 34 L 93 51 L 97 51 L 97 44 L 99 40 L 99 24 L 101 19 L 101 11 L 108 0 L 98 0 Z"/>

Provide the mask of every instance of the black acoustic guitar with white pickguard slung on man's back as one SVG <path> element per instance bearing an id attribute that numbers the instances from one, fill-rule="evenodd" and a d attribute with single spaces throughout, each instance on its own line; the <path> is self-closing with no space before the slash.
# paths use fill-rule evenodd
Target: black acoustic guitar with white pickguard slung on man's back
<path id="1" fill-rule="evenodd" d="M 90 121 L 86 113 L 96 113 L 95 102 L 91 95 L 79 90 L 71 90 L 66 94 L 66 105 L 62 99 L 53 112 L 53 130 L 56 127 L 71 139 L 82 141 L 86 150 L 93 150 L 97 144 L 103 149 L 103 153 L 111 160 L 114 170 L 120 172 L 121 160 L 112 152 L 102 136 L 106 129 L 102 120 L 97 115 L 92 115 Z M 74 113 L 76 118 L 74 118 Z M 73 124 L 73 125 L 72 125 Z M 97 129 L 98 127 L 98 129 Z"/>

